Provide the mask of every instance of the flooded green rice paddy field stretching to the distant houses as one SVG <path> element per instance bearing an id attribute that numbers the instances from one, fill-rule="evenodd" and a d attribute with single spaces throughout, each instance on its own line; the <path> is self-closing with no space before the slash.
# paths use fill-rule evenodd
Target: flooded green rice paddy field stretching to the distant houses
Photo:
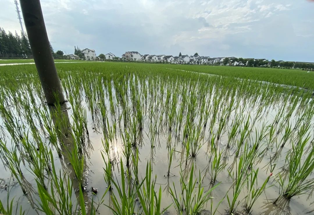
<path id="1" fill-rule="evenodd" d="M 56 67 L 0 67 L 0 213 L 314 214 L 313 73 Z"/>

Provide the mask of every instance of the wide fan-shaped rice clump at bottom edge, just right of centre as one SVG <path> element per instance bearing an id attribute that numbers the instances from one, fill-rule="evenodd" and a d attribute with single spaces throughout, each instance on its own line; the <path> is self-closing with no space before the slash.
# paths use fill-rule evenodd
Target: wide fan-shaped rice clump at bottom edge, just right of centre
<path id="1" fill-rule="evenodd" d="M 200 214 L 207 201 L 213 197 L 210 196 L 211 192 L 219 185 L 215 185 L 208 191 L 204 191 L 202 187 L 203 178 L 199 172 L 198 179 L 193 179 L 194 164 L 192 164 L 191 173 L 189 178 L 185 178 L 180 172 L 180 186 L 181 190 L 176 190 L 173 183 L 173 189 L 170 188 L 170 195 L 173 205 L 177 214 L 197 215 Z"/>

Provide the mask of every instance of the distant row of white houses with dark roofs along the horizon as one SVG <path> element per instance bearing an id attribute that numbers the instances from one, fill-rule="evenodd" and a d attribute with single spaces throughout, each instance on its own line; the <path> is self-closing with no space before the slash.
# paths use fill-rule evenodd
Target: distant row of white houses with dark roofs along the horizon
<path id="1" fill-rule="evenodd" d="M 310 62 L 285 62 L 283 60 L 268 61 L 264 58 L 236 58 L 236 57 L 216 57 L 200 56 L 198 53 L 194 55 L 150 55 L 140 54 L 136 51 L 125 52 L 121 58 L 113 53 L 96 55 L 94 49 L 85 48 L 80 50 L 80 56 L 69 54 L 69 59 L 84 59 L 84 60 L 106 60 L 106 61 L 138 61 L 151 63 L 173 63 L 173 64 L 194 64 L 194 65 L 229 65 L 229 66 L 255 66 L 255 67 L 277 67 L 277 68 L 303 68 L 314 69 L 314 63 Z"/>

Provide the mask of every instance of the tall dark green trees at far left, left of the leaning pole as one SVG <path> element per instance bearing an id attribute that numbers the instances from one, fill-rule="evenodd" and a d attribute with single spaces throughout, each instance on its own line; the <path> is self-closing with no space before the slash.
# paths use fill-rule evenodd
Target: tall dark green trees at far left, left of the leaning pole
<path id="1" fill-rule="evenodd" d="M 15 31 L 15 35 L 12 32 L 6 33 L 6 31 L 0 27 L 0 57 L 1 58 L 30 58 L 32 52 L 30 50 L 30 43 L 26 35 L 21 36 Z"/>

